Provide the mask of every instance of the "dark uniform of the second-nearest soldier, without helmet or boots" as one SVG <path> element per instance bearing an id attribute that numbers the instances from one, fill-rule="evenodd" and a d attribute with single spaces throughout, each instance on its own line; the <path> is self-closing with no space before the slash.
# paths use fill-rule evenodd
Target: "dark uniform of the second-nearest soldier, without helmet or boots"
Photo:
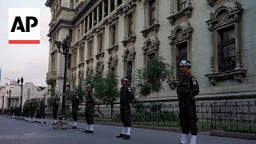
<path id="1" fill-rule="evenodd" d="M 130 86 L 122 86 L 120 89 L 120 113 L 124 127 L 131 126 L 130 102 L 134 99 Z"/>

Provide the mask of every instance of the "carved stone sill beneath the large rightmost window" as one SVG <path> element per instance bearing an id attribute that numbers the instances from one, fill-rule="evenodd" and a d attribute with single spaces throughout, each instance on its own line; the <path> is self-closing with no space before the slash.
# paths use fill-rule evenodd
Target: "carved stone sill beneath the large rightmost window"
<path id="1" fill-rule="evenodd" d="M 242 82 L 242 78 L 246 76 L 246 70 L 230 70 L 218 74 L 206 74 L 206 78 L 209 79 L 212 85 L 216 85 L 216 81 L 227 79 L 227 78 L 234 78 L 238 82 Z"/>

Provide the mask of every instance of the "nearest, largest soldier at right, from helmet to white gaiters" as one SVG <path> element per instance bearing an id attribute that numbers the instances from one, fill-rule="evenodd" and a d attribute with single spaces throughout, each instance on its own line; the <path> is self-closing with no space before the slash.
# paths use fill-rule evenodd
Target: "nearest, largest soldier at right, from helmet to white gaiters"
<path id="1" fill-rule="evenodd" d="M 199 86 L 197 79 L 190 74 L 190 61 L 182 60 L 179 66 L 182 71 L 182 77 L 179 78 L 177 86 L 178 117 L 182 127 L 181 143 L 187 142 L 188 134 L 191 132 L 190 144 L 196 144 L 198 128 L 194 97 L 199 93 Z"/>

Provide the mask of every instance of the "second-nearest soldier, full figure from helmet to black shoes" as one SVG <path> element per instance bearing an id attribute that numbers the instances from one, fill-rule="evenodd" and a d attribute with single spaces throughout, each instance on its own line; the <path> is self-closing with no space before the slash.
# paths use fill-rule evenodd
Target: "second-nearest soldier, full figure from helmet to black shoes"
<path id="1" fill-rule="evenodd" d="M 130 102 L 134 99 L 134 94 L 131 91 L 130 86 L 127 86 L 128 78 L 122 77 L 120 89 L 120 113 L 123 128 L 121 134 L 117 138 L 130 139 Z"/>

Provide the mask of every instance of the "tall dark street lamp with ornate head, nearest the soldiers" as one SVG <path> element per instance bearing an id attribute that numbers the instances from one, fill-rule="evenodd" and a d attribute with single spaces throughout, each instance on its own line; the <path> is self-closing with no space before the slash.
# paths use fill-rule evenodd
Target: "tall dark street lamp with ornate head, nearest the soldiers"
<path id="1" fill-rule="evenodd" d="M 62 94 L 62 115 L 59 117 L 60 120 L 66 120 L 65 114 L 65 105 L 66 105 L 66 64 L 67 58 L 70 50 L 70 38 L 66 36 L 63 42 L 55 41 L 55 44 L 58 47 L 58 53 L 63 54 L 65 57 L 65 66 L 64 66 L 64 82 L 63 82 L 63 94 Z M 62 48 L 62 50 L 61 50 Z"/>

